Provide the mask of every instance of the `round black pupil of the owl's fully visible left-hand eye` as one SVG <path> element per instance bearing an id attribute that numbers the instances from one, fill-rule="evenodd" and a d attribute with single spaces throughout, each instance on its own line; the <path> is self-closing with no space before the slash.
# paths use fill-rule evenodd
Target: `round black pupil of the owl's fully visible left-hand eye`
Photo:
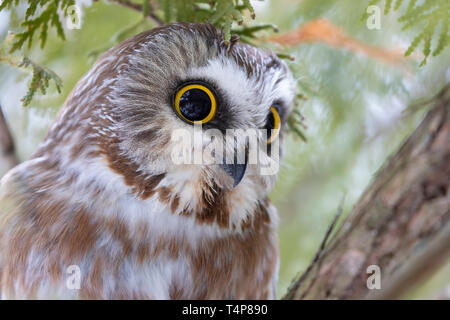
<path id="1" fill-rule="evenodd" d="M 191 121 L 203 120 L 211 112 L 211 99 L 203 90 L 188 90 L 180 97 L 180 112 Z"/>

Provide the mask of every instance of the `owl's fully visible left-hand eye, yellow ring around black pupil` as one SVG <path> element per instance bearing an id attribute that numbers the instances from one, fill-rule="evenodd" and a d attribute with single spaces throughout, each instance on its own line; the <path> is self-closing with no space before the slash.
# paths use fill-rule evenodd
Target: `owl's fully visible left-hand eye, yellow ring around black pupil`
<path id="1" fill-rule="evenodd" d="M 188 84 L 175 94 L 175 110 L 191 123 L 207 123 L 216 113 L 217 102 L 212 91 L 198 83 Z"/>

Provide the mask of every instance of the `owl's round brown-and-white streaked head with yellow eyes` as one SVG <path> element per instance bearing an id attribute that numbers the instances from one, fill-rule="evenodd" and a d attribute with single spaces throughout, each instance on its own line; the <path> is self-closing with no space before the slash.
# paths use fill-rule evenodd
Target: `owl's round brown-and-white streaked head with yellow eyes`
<path id="1" fill-rule="evenodd" d="M 78 156 L 83 152 L 98 155 L 87 146 L 99 146 L 109 166 L 141 196 L 162 187 L 182 194 L 208 186 L 262 199 L 276 173 L 264 174 L 261 166 L 267 165 L 274 146 L 282 145 L 294 97 L 292 75 L 273 53 L 236 39 L 225 41 L 211 25 L 175 23 L 108 51 L 80 81 L 67 104 L 81 118 L 74 129 L 88 130 L 85 141 L 77 143 Z M 63 111 L 60 126 L 71 122 L 64 121 L 69 113 Z M 231 151 L 245 149 L 244 161 L 174 161 L 177 150 L 191 150 L 195 145 L 195 137 L 192 145 L 186 145 L 189 139 L 180 138 L 180 132 L 189 135 L 200 125 L 205 133 L 203 148 L 208 141 L 220 142 L 223 159 Z M 227 142 L 230 129 L 279 130 L 259 136 L 257 145 L 264 148 L 259 148 L 256 163 L 254 158 L 250 163 L 252 139 L 238 131 L 235 141 Z"/>

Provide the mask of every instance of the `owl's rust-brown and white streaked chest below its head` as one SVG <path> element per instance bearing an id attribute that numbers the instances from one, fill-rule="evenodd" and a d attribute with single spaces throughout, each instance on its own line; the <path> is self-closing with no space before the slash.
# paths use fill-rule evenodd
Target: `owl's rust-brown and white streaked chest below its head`
<path id="1" fill-rule="evenodd" d="M 245 230 L 232 230 L 174 213 L 156 196 L 70 195 L 16 208 L 22 213 L 3 241 L 5 297 L 273 297 L 278 248 L 269 208 L 259 205 Z M 31 212 L 40 223 L 32 230 Z"/>

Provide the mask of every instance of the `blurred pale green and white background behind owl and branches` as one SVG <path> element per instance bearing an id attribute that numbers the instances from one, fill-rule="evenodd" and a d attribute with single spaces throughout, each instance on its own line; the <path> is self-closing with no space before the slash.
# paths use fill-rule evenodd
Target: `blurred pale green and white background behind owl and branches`
<path id="1" fill-rule="evenodd" d="M 141 19 L 140 13 L 113 3 L 77 3 L 84 6 L 80 30 L 67 30 L 65 42 L 51 32 L 44 50 L 34 45 L 27 51 L 63 79 L 61 94 L 52 88 L 24 108 L 20 99 L 30 75 L 0 64 L 0 104 L 20 160 L 36 149 L 75 83 L 92 66 L 92 51 L 105 51 L 115 44 L 114 35 Z M 256 23 L 274 23 L 281 33 L 322 17 L 362 43 L 404 52 L 419 32 L 414 28 L 402 31 L 399 13 L 382 15 L 381 28 L 369 30 L 361 21 L 367 1 L 266 0 L 253 4 Z M 0 13 L 0 41 L 8 30 L 20 30 L 23 13 L 24 8 Z M 151 27 L 150 22 L 139 25 L 126 36 Z M 308 142 L 289 137 L 271 196 L 280 214 L 280 297 L 294 276 L 308 266 L 343 194 L 347 213 L 386 158 L 417 126 L 425 110 L 413 111 L 408 106 L 450 82 L 448 48 L 424 67 L 419 67 L 420 56 L 405 59 L 399 66 L 325 43 L 301 43 L 283 50 L 295 56 L 289 65 L 308 97 L 300 101 Z M 449 294 L 449 266 L 406 298 L 434 298 L 445 290 Z"/>

